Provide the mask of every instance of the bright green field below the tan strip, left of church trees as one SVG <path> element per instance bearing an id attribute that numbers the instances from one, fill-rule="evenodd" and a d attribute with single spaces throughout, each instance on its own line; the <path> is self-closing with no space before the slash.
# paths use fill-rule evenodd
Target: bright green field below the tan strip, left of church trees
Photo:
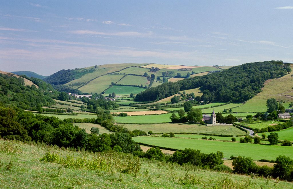
<path id="1" fill-rule="evenodd" d="M 178 116 L 178 113 L 176 113 Z M 127 117 L 115 117 L 117 123 L 165 123 L 170 122 L 171 113 L 160 115 L 137 115 Z"/>

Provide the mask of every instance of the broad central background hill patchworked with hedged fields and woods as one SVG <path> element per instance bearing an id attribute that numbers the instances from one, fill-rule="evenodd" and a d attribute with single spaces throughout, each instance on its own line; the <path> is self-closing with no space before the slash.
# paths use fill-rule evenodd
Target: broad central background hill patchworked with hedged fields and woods
<path id="1" fill-rule="evenodd" d="M 87 68 L 60 70 L 44 81 L 61 91 L 137 94 L 166 81 L 179 81 L 198 74 L 222 71 L 218 67 L 161 64 L 105 64 Z M 146 74 L 145 74 L 146 73 Z M 121 87 L 123 86 L 123 87 Z"/>

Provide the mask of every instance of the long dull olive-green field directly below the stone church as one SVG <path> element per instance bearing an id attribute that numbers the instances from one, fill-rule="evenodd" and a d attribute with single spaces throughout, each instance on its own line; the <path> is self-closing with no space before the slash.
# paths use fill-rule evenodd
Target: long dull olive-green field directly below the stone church
<path id="1" fill-rule="evenodd" d="M 135 116 L 137 117 L 137 116 Z M 119 124 L 129 130 L 142 130 L 145 132 L 152 131 L 154 133 L 169 133 L 169 132 L 186 132 L 186 133 L 207 133 L 207 134 L 229 134 L 229 135 L 244 135 L 246 132 L 231 127 L 229 125 L 198 125 L 189 123 L 161 123 L 161 124 Z M 229 128 L 231 127 L 231 128 Z"/>

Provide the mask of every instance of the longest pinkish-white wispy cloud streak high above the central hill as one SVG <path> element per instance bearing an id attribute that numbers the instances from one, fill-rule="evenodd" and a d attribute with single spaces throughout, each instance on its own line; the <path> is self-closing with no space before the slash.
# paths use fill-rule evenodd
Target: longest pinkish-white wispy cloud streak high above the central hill
<path id="1" fill-rule="evenodd" d="M 114 33 L 105 33 L 105 32 L 98 32 L 98 31 L 92 31 L 92 30 L 75 30 L 71 31 L 70 33 L 74 34 L 80 34 L 80 35 L 110 35 L 110 36 L 136 36 L 136 37 L 144 37 L 144 36 L 150 36 L 153 33 L 148 32 L 148 33 L 139 33 L 139 32 L 114 32 Z"/>

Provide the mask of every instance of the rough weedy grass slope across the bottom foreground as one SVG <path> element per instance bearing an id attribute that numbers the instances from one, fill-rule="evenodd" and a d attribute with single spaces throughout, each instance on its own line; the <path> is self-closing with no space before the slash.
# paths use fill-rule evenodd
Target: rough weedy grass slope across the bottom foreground
<path id="1" fill-rule="evenodd" d="M 11 149 L 15 149 L 14 151 Z M 195 166 L 179 166 L 159 161 L 140 159 L 136 174 L 122 173 L 119 169 L 73 168 L 67 164 L 40 161 L 47 152 L 63 158 L 107 158 L 108 154 L 74 152 L 28 145 L 21 142 L 0 141 L 1 188 L 292 188 L 289 182 L 228 173 L 201 170 Z M 120 158 L 132 163 L 135 157 L 114 153 L 108 158 L 118 166 Z M 111 161 L 109 166 L 113 166 Z M 117 166 L 117 165 L 115 165 Z M 119 167 L 118 167 L 119 168 Z"/>

